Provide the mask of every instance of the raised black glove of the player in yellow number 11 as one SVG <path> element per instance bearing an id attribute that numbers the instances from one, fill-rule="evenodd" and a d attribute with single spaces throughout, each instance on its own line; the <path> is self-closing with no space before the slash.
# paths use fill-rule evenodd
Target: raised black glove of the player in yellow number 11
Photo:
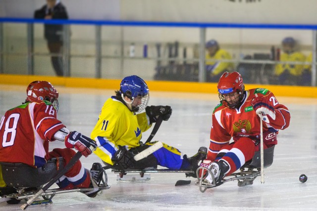
<path id="1" fill-rule="evenodd" d="M 172 108 L 170 106 L 147 106 L 145 108 L 150 123 L 156 123 L 159 116 L 162 117 L 164 121 L 167 121 L 172 115 Z"/>

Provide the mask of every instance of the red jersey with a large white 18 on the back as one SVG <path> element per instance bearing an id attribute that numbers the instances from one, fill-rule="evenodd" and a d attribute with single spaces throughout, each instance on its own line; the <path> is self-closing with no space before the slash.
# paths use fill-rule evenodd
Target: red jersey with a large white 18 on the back
<path id="1" fill-rule="evenodd" d="M 0 162 L 42 167 L 49 159 L 49 141 L 62 127 L 48 101 L 27 102 L 8 110 L 0 122 Z"/>

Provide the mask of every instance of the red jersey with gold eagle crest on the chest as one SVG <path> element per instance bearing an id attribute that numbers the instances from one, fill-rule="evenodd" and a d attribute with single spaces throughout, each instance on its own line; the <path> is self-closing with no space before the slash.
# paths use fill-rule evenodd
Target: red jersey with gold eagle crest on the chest
<path id="1" fill-rule="evenodd" d="M 246 90 L 240 108 L 230 109 L 218 104 L 212 113 L 212 126 L 210 134 L 210 147 L 208 159 L 214 161 L 217 153 L 229 144 L 231 137 L 234 141 L 240 137 L 249 137 L 260 141 L 260 117 L 253 110 L 251 100 L 257 96 L 267 98 L 268 103 L 274 108 L 275 120 L 268 115 L 269 124 L 263 122 L 264 143 L 266 146 L 277 144 L 276 135 L 279 129 L 289 126 L 290 113 L 286 106 L 280 104 L 274 94 L 265 88 Z"/>

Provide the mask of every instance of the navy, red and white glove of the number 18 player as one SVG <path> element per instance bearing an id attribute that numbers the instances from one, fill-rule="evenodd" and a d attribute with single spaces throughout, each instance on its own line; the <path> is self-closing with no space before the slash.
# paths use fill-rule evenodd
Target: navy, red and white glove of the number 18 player
<path id="1" fill-rule="evenodd" d="M 96 142 L 89 137 L 82 135 L 77 131 L 70 132 L 65 139 L 65 146 L 67 148 L 75 148 L 88 157 L 97 147 Z"/>

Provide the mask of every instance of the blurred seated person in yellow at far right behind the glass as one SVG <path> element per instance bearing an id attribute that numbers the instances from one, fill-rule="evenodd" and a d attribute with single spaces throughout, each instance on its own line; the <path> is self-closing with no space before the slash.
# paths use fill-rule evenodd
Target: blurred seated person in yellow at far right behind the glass
<path id="1" fill-rule="evenodd" d="M 282 41 L 283 53 L 281 62 L 305 62 L 305 55 L 295 50 L 296 42 L 292 37 Z M 300 85 L 302 82 L 303 64 L 281 63 L 275 66 L 274 75 L 278 77 L 279 84 Z"/>

